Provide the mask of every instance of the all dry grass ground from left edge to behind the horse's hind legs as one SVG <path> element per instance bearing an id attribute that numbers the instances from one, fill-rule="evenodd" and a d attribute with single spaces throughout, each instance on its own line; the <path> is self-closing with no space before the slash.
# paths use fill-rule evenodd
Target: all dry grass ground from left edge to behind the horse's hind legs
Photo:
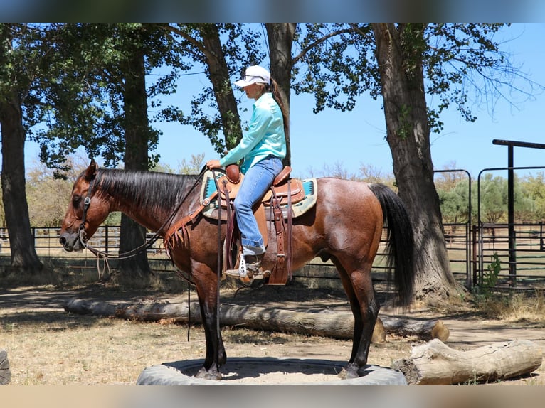
<path id="1" fill-rule="evenodd" d="M 152 291 L 134 296 L 115 288 L 101 290 L 98 297 L 106 295 L 114 303 L 170 296 Z M 0 292 L 0 348 L 8 352 L 11 385 L 134 385 L 144 367 L 204 358 L 201 326 L 191 327 L 188 341 L 187 326 L 73 315 L 63 310 L 59 299 L 48 302 L 49 293 L 53 297 L 55 293 L 68 296 L 70 291 L 48 286 Z M 17 304 L 2 299 L 17 294 L 21 295 Z M 90 295 L 78 290 L 73 294 L 78 298 Z M 180 297 L 185 300 L 185 295 Z M 223 328 L 222 333 L 228 357 L 327 358 L 345 362 L 351 352 L 349 340 L 245 328 Z M 369 363 L 389 366 L 396 358 L 408 355 L 410 349 L 410 338 L 391 338 L 372 346 Z"/>

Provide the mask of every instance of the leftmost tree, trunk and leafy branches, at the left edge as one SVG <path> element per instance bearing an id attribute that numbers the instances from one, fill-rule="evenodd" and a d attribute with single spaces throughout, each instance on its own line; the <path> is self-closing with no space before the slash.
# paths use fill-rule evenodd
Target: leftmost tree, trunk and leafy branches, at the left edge
<path id="1" fill-rule="evenodd" d="M 11 245 L 11 269 L 36 274 L 42 269 L 31 236 L 26 202 L 24 146 L 27 137 L 41 141 L 45 128 L 68 136 L 67 146 L 75 149 L 80 138 L 73 128 L 78 123 L 82 134 L 91 132 L 96 106 L 88 104 L 88 82 L 75 56 L 61 52 L 65 43 L 62 25 L 0 24 L 0 122 L 2 132 L 2 199 Z M 80 38 L 72 38 L 78 42 Z M 85 55 L 80 55 L 85 58 Z M 77 58 L 76 58 L 77 60 Z M 86 61 L 87 63 L 89 61 Z M 87 109 L 83 109 L 86 107 Z M 49 125 L 49 126 L 48 126 Z M 53 162 L 65 159 L 66 149 L 48 156 Z M 42 156 L 46 153 L 42 150 Z"/>

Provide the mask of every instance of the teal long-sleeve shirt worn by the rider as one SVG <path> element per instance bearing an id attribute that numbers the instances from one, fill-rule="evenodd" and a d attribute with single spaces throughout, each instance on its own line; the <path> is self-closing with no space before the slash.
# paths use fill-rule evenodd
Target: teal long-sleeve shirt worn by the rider
<path id="1" fill-rule="evenodd" d="M 243 133 L 240 143 L 220 159 L 221 166 L 244 159 L 240 171 L 272 154 L 279 159 L 286 156 L 286 138 L 282 111 L 270 92 L 265 92 L 253 104 L 248 131 Z"/>

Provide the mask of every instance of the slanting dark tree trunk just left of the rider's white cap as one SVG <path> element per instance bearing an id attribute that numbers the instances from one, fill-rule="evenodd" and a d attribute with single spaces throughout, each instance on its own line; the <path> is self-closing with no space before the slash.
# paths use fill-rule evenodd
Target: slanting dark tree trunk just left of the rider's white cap
<path id="1" fill-rule="evenodd" d="M 232 149 L 242 139 L 240 132 L 240 117 L 233 86 L 230 82 L 229 68 L 221 48 L 221 40 L 216 24 L 206 24 L 201 29 L 203 45 L 207 52 L 206 61 L 210 70 L 210 80 L 218 103 L 221 116 L 221 127 L 225 137 L 227 149 Z"/>

